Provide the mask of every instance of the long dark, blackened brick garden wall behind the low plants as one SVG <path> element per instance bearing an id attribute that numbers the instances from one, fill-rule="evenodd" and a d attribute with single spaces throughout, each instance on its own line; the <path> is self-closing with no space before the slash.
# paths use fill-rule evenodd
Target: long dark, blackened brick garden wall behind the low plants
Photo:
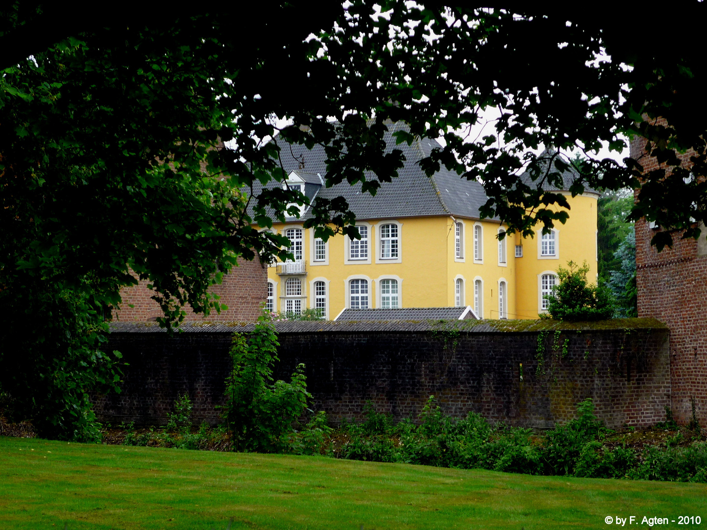
<path id="1" fill-rule="evenodd" d="M 456 339 L 434 332 L 281 333 L 279 341 L 276 377 L 287 379 L 305 363 L 315 408 L 334 422 L 360 418 L 368 400 L 396 418 L 416 416 L 431 394 L 454 416 L 477 411 L 536 428 L 572 418 L 587 397 L 609 426 L 656 423 L 670 404 L 665 329 L 551 332 L 539 375 L 537 333 L 462 332 Z M 187 391 L 194 420 L 216 423 L 229 344 L 225 333 L 112 334 L 110 348 L 130 366 L 122 394 L 98 400 L 98 416 L 114 424 L 164 424 L 177 394 Z"/>

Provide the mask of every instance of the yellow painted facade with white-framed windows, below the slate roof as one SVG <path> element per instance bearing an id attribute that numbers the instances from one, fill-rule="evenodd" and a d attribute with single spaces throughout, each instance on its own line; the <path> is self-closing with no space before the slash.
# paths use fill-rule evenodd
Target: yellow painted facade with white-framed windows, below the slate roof
<path id="1" fill-rule="evenodd" d="M 554 240 L 546 242 L 544 252 L 539 235 L 523 239 L 516 234 L 499 242 L 496 235 L 502 227 L 497 222 L 426 216 L 357 220 L 358 226 L 368 229 L 368 252 L 365 258 L 351 259 L 348 237 L 332 237 L 315 252 L 313 230 L 305 230 L 298 220 L 280 223 L 273 230 L 285 235 L 295 230 L 289 232 L 293 237 L 301 234 L 301 243 L 295 242 L 301 254 L 295 263 L 268 267 L 268 303 L 275 312 L 298 312 L 317 307 L 318 300 L 327 319 L 356 303 L 367 307 L 470 305 L 486 319 L 537 318 L 542 312 L 543 275 L 554 275 L 568 261 L 586 261 L 588 278 L 597 277 L 597 198 L 595 193 L 568 196 L 570 218 L 564 225 L 557 223 Z M 460 223 L 458 250 L 455 223 Z M 390 235 L 391 226 L 397 228 L 397 256 L 391 250 L 395 238 L 382 239 Z M 505 246 L 505 262 L 500 245 Z M 516 257 L 517 245 L 522 245 L 522 257 Z M 457 280 L 461 281 L 459 298 Z M 368 290 L 365 294 L 353 292 L 361 291 L 361 281 Z M 393 293 L 396 283 L 397 293 Z"/>

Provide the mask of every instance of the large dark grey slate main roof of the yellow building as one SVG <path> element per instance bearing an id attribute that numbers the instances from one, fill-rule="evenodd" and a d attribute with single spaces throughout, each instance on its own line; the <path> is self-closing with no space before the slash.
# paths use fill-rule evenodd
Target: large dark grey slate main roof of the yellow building
<path id="1" fill-rule="evenodd" d="M 479 218 L 479 208 L 486 203 L 484 188 L 476 181 L 462 179 L 456 172 L 441 167 L 433 177 L 427 177 L 418 162 L 426 158 L 433 148 L 441 148 L 433 139 L 418 139 L 408 145 L 407 142 L 396 145 L 392 133 L 405 127 L 402 122 L 389 124 L 384 135 L 386 145 L 400 149 L 406 162 L 398 170 L 398 177 L 392 182 L 383 182 L 375 196 L 361 192 L 361 184 L 351 186 L 344 181 L 330 188 L 322 186 L 317 196 L 334 199 L 343 196 L 357 219 L 401 218 L 418 216 L 457 216 L 460 218 Z M 276 139 L 277 141 L 277 139 Z M 280 146 L 280 157 L 287 174 L 292 171 L 302 176 L 317 173 L 326 177 L 326 153 L 322 146 L 315 145 L 311 150 L 303 145 Z M 375 175 L 366 178 L 375 179 Z M 271 185 L 275 185 L 274 183 Z M 255 194 L 260 191 L 254 187 Z M 301 219 L 307 219 L 305 212 Z"/>

